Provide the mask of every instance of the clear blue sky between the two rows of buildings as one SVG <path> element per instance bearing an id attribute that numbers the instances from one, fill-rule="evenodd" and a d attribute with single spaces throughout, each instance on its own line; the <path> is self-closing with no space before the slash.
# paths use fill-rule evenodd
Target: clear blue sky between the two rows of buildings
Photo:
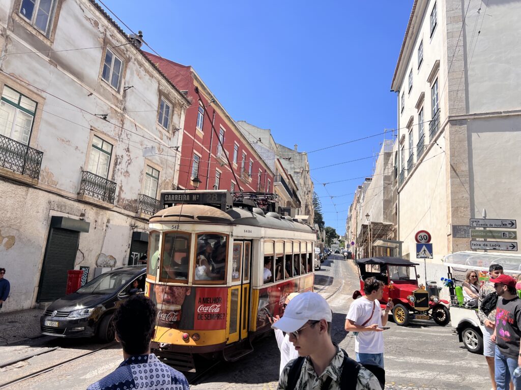
<path id="1" fill-rule="evenodd" d="M 389 90 L 413 0 L 103 2 L 159 55 L 192 65 L 235 120 L 280 144 L 311 152 L 396 127 Z M 319 167 L 370 157 L 382 140 L 308 154 L 326 226 L 341 235 L 363 179 L 322 183 L 370 175 L 375 159 Z"/>

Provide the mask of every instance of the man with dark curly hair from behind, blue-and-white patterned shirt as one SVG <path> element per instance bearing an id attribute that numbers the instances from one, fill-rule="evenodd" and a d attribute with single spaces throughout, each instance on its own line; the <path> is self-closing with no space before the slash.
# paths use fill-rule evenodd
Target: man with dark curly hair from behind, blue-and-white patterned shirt
<path id="1" fill-rule="evenodd" d="M 87 390 L 189 390 L 183 374 L 150 353 L 156 322 L 156 308 L 151 300 L 143 295 L 131 296 L 118 307 L 113 321 L 125 360 Z"/>

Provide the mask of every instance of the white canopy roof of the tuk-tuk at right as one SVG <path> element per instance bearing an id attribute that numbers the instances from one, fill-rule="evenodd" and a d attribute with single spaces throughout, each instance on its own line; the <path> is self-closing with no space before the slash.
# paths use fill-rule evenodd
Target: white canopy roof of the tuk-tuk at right
<path id="1" fill-rule="evenodd" d="M 466 268 L 488 271 L 491 264 L 501 264 L 505 272 L 521 271 L 521 255 L 463 251 L 446 255 L 444 265 L 453 268 Z"/>

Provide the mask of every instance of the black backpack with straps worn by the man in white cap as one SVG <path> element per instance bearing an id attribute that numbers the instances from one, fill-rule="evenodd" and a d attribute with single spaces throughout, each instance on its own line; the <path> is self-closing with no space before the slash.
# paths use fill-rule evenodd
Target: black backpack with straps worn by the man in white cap
<path id="1" fill-rule="evenodd" d="M 362 367 L 371 371 L 378 382 L 380 382 L 380 386 L 383 389 L 386 383 L 386 372 L 383 368 L 379 366 L 373 365 L 362 365 L 357 361 L 351 359 L 348 354 L 344 352 L 344 361 L 342 363 L 342 373 L 340 374 L 340 388 L 341 390 L 356 390 L 356 384 L 358 382 L 358 371 Z M 297 357 L 293 364 L 291 365 L 290 371 L 288 372 L 288 382 L 286 383 L 287 390 L 294 390 L 297 381 L 299 380 L 300 373 L 302 371 L 302 366 L 304 366 L 305 357 Z M 322 384 L 321 390 L 327 390 L 331 385 L 331 377 L 328 376 L 326 381 Z"/>

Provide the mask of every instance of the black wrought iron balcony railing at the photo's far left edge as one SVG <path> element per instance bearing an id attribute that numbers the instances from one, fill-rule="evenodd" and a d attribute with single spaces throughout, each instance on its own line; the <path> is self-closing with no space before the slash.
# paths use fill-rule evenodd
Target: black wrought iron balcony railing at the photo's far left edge
<path id="1" fill-rule="evenodd" d="M 40 150 L 0 135 L 0 166 L 3 168 L 38 179 L 42 158 Z"/>

